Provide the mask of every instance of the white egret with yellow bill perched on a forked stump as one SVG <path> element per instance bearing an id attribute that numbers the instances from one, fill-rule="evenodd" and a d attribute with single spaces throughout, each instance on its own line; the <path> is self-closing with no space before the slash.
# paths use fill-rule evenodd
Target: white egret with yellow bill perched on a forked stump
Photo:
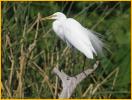
<path id="1" fill-rule="evenodd" d="M 54 19 L 54 32 L 67 43 L 82 52 L 87 58 L 93 59 L 94 54 L 102 54 L 103 42 L 97 35 L 84 28 L 73 18 L 67 18 L 63 13 L 56 12 L 44 19 Z"/>

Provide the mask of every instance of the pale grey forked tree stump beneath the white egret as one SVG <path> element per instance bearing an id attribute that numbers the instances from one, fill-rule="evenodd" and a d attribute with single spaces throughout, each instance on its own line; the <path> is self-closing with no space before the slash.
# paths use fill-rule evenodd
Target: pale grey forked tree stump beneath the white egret
<path id="1" fill-rule="evenodd" d="M 98 67 L 99 62 L 97 61 L 93 69 L 86 69 L 85 71 L 81 72 L 80 74 L 70 77 L 67 74 L 65 74 L 63 71 L 59 71 L 58 68 L 53 69 L 53 73 L 55 73 L 62 81 L 62 87 L 63 90 L 59 95 L 59 98 L 70 98 L 72 93 L 74 92 L 77 85 L 84 80 L 88 75 L 90 75 L 92 72 L 95 71 L 95 69 Z"/>

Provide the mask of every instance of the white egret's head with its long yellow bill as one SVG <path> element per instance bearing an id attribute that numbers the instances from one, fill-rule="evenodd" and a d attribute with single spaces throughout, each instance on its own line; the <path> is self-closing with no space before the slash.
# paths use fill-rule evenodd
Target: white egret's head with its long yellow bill
<path id="1" fill-rule="evenodd" d="M 53 15 L 45 17 L 45 19 L 61 20 L 61 19 L 66 19 L 66 16 L 63 13 L 61 13 L 61 12 L 56 12 Z"/>

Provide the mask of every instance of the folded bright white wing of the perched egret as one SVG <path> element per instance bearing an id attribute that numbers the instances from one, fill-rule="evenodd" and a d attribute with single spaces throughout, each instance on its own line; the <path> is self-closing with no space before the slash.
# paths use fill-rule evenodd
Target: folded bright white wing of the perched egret
<path id="1" fill-rule="evenodd" d="M 93 59 L 93 53 L 96 54 L 96 51 L 81 24 L 72 18 L 68 18 L 63 23 L 63 28 L 65 39 L 88 58 Z"/>

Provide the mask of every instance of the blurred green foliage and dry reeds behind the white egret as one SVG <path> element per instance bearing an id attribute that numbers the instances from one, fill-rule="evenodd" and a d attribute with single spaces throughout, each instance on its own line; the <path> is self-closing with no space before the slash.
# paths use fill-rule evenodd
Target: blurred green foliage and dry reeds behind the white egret
<path id="1" fill-rule="evenodd" d="M 58 98 L 54 67 L 74 76 L 96 61 L 72 48 L 64 52 L 52 21 L 34 24 L 39 13 L 58 11 L 100 33 L 107 45 L 98 69 L 71 98 L 130 98 L 130 2 L 61 1 L 2 2 L 2 98 Z"/>

